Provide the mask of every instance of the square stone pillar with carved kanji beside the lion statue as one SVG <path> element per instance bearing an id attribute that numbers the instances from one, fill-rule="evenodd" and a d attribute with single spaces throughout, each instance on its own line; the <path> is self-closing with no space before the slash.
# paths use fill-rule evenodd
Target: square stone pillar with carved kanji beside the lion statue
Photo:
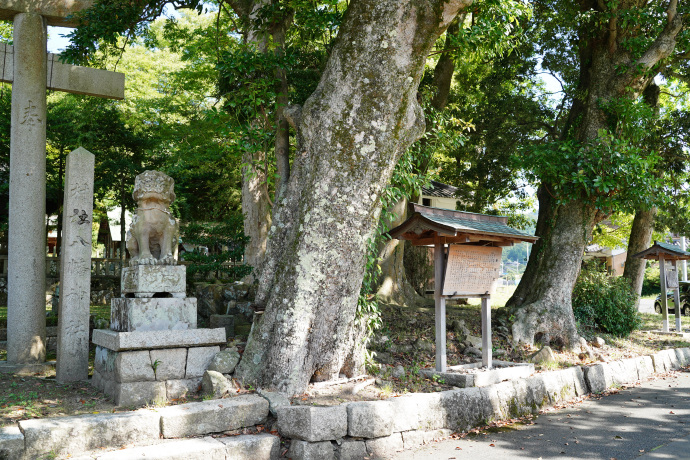
<path id="1" fill-rule="evenodd" d="M 60 253 L 58 382 L 89 378 L 91 224 L 94 156 L 80 147 L 67 155 Z"/>

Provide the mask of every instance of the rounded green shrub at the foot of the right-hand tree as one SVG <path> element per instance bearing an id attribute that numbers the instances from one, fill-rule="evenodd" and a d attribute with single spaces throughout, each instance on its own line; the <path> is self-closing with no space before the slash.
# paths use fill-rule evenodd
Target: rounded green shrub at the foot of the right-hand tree
<path id="1" fill-rule="evenodd" d="M 642 324 L 636 300 L 627 279 L 583 270 L 573 290 L 573 313 L 581 329 L 625 337 Z"/>

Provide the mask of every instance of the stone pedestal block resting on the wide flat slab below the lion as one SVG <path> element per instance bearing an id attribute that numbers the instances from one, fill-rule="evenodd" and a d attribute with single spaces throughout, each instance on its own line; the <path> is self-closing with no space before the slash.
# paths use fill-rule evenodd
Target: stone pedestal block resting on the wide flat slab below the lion
<path id="1" fill-rule="evenodd" d="M 117 332 L 196 329 L 196 299 L 112 299 L 110 329 Z"/>

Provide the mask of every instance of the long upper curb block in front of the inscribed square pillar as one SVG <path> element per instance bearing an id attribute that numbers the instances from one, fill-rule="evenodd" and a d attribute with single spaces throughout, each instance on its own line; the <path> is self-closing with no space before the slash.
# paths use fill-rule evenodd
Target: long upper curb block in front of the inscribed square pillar
<path id="1" fill-rule="evenodd" d="M 24 433 L 27 458 L 48 452 L 74 456 L 101 447 L 151 444 L 160 438 L 160 416 L 153 411 L 139 410 L 22 420 L 19 429 Z"/>

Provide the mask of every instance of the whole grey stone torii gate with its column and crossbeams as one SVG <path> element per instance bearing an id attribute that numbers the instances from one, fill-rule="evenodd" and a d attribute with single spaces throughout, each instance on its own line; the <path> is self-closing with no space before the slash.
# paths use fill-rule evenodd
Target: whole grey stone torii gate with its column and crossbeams
<path id="1" fill-rule="evenodd" d="M 92 3 L 0 0 L 0 19 L 14 22 L 14 47 L 0 50 L 0 80 L 12 83 L 9 370 L 45 361 L 46 90 L 124 99 L 124 74 L 61 64 L 47 53 L 47 26 L 76 26 L 69 16 Z"/>

